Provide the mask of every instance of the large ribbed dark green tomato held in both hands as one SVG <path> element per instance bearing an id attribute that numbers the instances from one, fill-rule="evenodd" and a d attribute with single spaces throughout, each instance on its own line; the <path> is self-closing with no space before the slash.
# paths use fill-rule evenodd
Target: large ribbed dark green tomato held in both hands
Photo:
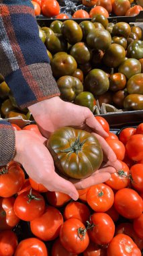
<path id="1" fill-rule="evenodd" d="M 61 174 L 73 179 L 85 179 L 97 170 L 103 161 L 99 141 L 87 131 L 63 127 L 54 131 L 47 148 Z"/>

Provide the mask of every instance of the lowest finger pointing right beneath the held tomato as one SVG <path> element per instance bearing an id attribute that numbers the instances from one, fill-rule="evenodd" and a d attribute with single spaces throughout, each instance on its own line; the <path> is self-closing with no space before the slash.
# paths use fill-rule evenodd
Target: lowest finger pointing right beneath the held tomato
<path id="1" fill-rule="evenodd" d="M 103 172 L 103 173 L 96 173 L 92 176 L 76 181 L 73 180 L 73 183 L 76 187 L 76 189 L 86 189 L 87 187 L 91 187 L 93 185 L 104 183 L 105 181 L 109 180 L 111 178 L 111 174 L 109 172 Z M 70 180 L 72 181 L 72 180 Z"/>

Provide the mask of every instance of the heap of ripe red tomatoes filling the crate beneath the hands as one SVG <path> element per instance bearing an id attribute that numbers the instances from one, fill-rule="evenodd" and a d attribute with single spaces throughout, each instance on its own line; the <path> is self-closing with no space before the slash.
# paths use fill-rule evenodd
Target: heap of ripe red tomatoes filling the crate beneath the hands
<path id="1" fill-rule="evenodd" d="M 26 179 L 22 167 L 10 162 L 0 170 L 1 256 L 141 256 L 143 249 L 143 123 L 106 141 L 122 162 L 111 179 L 79 191 L 79 200 L 48 191 Z M 13 129 L 20 129 L 13 125 Z M 29 129 L 40 134 L 37 125 Z M 15 232 L 23 222 L 29 233 Z"/>

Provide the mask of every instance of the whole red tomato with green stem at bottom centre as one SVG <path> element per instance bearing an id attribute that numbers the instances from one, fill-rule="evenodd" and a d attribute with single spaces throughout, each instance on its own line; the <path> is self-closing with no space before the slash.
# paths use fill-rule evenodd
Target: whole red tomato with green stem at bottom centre
<path id="1" fill-rule="evenodd" d="M 60 228 L 60 243 L 70 253 L 83 253 L 89 245 L 85 225 L 77 219 L 68 219 Z"/>

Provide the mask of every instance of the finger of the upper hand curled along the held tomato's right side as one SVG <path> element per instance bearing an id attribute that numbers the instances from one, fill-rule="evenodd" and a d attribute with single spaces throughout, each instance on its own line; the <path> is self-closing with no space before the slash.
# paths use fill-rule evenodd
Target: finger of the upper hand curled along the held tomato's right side
<path id="1" fill-rule="evenodd" d="M 103 137 L 101 137 L 100 135 L 98 135 L 97 133 L 92 133 L 93 135 L 95 135 L 95 137 L 97 137 L 101 148 L 103 150 L 103 154 L 104 156 L 107 158 L 107 160 L 111 161 L 111 162 L 115 162 L 117 160 L 117 157 L 115 156 L 115 153 L 113 152 L 113 150 L 109 147 L 108 143 L 105 141 L 105 139 L 103 139 Z"/>

